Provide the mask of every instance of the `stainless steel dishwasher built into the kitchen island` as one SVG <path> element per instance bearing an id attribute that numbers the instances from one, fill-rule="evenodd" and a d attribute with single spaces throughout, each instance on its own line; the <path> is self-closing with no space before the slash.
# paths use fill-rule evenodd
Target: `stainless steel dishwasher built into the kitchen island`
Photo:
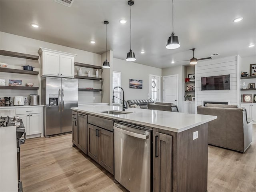
<path id="1" fill-rule="evenodd" d="M 134 124 L 114 124 L 115 180 L 130 192 L 152 191 L 151 133 Z"/>

